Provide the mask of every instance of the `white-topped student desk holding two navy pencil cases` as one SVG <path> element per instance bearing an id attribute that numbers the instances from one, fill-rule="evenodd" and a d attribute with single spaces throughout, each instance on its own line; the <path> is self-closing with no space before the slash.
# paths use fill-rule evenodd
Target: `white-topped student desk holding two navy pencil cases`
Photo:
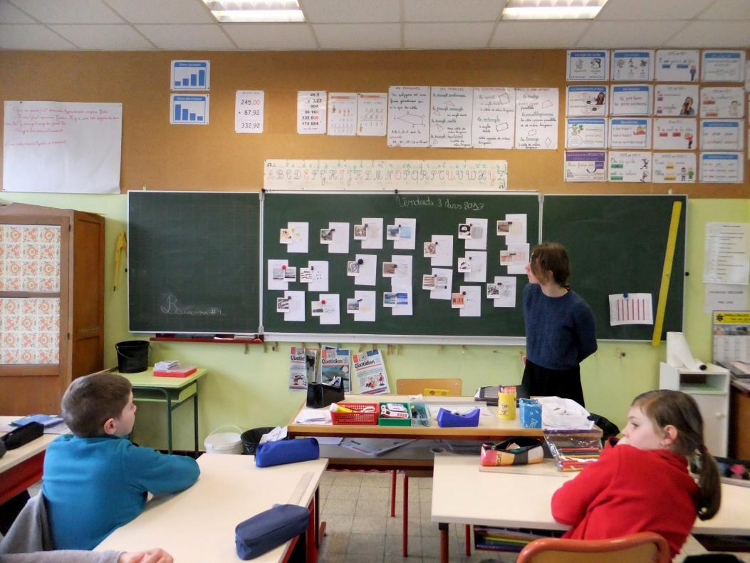
<path id="1" fill-rule="evenodd" d="M 255 456 L 204 454 L 198 458 L 198 481 L 175 495 L 154 498 L 133 521 L 116 529 L 97 547 L 140 551 L 165 549 L 180 563 L 241 561 L 235 547 L 235 526 L 274 504 L 311 506 L 305 537 L 308 561 L 315 561 L 314 521 L 318 482 L 326 459 L 257 468 Z M 296 540 L 253 561 L 286 561 Z"/>

